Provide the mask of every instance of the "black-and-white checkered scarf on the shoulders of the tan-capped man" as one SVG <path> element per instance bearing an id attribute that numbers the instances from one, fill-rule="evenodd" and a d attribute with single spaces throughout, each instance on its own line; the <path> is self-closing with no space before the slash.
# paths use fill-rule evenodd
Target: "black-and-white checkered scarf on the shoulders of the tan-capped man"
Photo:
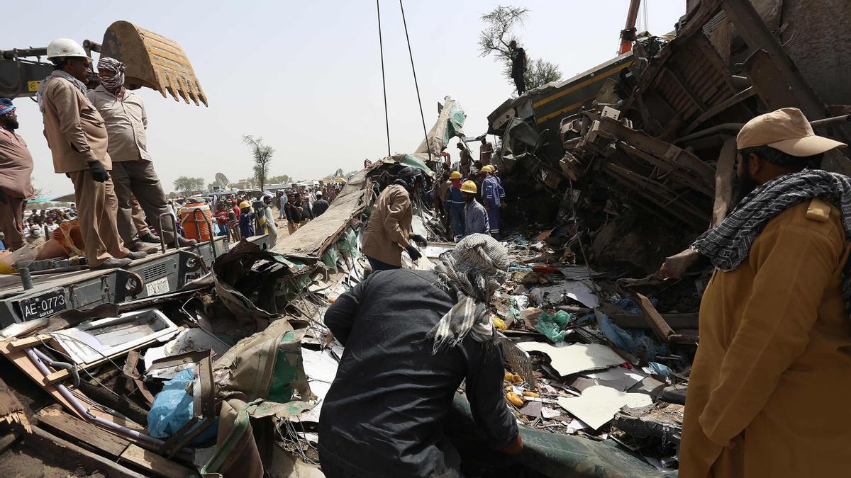
<path id="1" fill-rule="evenodd" d="M 747 259 L 751 245 L 768 221 L 786 209 L 818 197 L 842 211 L 842 226 L 851 237 L 851 178 L 820 169 L 774 178 L 751 191 L 721 224 L 704 232 L 692 248 L 723 271 L 734 270 Z M 842 295 L 851 311 L 851 261 L 842 272 Z"/>

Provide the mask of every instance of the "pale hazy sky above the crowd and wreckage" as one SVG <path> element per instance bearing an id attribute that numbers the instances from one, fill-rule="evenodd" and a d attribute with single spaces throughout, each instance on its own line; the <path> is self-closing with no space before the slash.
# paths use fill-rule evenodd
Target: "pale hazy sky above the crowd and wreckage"
<path id="1" fill-rule="evenodd" d="M 639 30 L 661 35 L 685 13 L 684 0 L 645 0 Z M 480 17 L 489 1 L 405 2 L 414 64 L 426 127 L 437 102 L 450 95 L 467 113 L 465 133 L 481 134 L 486 117 L 512 91 L 493 57 L 480 57 Z M 503 4 L 510 4 L 504 2 Z M 518 31 L 530 60 L 560 66 L 563 78 L 614 58 L 628 0 L 535 0 Z M 384 105 L 375 3 L 324 2 L 146 2 L 9 3 L 0 49 L 44 47 L 55 37 L 99 42 L 115 20 L 129 20 L 174 39 L 195 69 L 209 107 L 164 99 L 136 90 L 148 114 L 148 151 L 166 191 L 178 176 L 214 180 L 251 175 L 243 134 L 275 147 L 271 174 L 316 179 L 336 168 L 361 168 L 363 159 L 386 156 Z M 408 60 L 399 3 L 381 0 L 391 149 L 413 151 L 422 140 L 420 111 Z M 96 56 L 95 56 L 96 58 Z M 19 133 L 35 158 L 36 187 L 60 196 L 72 190 L 54 174 L 43 123 L 26 98 L 19 107 Z M 450 150 L 453 155 L 455 149 Z"/>

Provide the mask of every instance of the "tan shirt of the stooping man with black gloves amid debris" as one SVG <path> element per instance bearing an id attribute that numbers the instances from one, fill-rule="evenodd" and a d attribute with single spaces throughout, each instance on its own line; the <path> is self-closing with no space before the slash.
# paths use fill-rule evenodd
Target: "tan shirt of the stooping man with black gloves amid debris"
<path id="1" fill-rule="evenodd" d="M 389 185 L 375 200 L 367 230 L 363 232 L 363 253 L 389 265 L 402 265 L 402 251 L 410 243 L 413 211 L 408 191 Z"/>

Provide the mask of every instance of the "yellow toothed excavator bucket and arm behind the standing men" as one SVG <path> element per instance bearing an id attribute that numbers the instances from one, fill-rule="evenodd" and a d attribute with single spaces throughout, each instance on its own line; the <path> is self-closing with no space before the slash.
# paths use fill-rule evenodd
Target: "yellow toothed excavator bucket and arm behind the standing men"
<path id="1" fill-rule="evenodd" d="M 89 56 L 94 51 L 123 61 L 129 89 L 147 87 L 165 98 L 168 93 L 177 101 L 207 105 L 207 95 L 186 53 L 170 38 L 119 20 L 106 29 L 102 43 L 85 40 L 83 48 Z M 0 96 L 35 96 L 38 84 L 54 69 L 49 61 L 41 60 L 46 54 L 47 48 L 0 50 Z"/>

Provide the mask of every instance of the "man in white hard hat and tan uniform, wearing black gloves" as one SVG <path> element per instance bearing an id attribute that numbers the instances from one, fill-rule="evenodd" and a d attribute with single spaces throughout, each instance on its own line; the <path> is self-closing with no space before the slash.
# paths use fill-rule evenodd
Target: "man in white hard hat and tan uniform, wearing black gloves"
<path id="1" fill-rule="evenodd" d="M 144 252 L 130 252 L 117 230 L 118 201 L 109 171 L 104 119 L 86 98 L 85 82 L 91 60 L 79 43 L 67 38 L 48 45 L 54 72 L 38 88 L 44 136 L 53 153 L 54 170 L 74 185 L 77 219 L 91 268 L 129 265 Z"/>

